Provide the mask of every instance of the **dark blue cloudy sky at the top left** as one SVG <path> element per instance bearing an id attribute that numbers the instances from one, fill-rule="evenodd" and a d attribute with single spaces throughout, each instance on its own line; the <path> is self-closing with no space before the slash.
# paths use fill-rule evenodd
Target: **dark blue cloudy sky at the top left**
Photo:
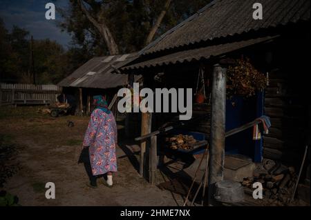
<path id="1" fill-rule="evenodd" d="M 46 3 L 54 3 L 56 8 L 68 7 L 68 0 L 0 0 L 0 17 L 5 26 L 11 30 L 13 26 L 24 28 L 33 35 L 34 39 L 50 39 L 68 46 L 70 35 L 57 27 L 62 17 L 57 11 L 55 20 L 45 17 Z"/>

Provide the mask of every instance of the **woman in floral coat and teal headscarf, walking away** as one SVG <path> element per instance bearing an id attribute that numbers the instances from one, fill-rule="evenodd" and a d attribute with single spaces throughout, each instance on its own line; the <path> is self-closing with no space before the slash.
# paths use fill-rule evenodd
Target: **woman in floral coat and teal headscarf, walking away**
<path id="1" fill-rule="evenodd" d="M 117 172 L 117 158 L 115 146 L 117 145 L 117 126 L 112 112 L 107 108 L 107 102 L 101 95 L 93 97 L 95 109 L 86 129 L 83 141 L 84 148 L 88 148 L 89 162 L 84 163 L 91 188 L 97 188 L 97 177 L 107 174 L 103 183 L 113 186 L 112 172 Z M 91 166 L 90 166 L 91 165 Z M 88 171 L 88 170 L 91 170 Z"/>

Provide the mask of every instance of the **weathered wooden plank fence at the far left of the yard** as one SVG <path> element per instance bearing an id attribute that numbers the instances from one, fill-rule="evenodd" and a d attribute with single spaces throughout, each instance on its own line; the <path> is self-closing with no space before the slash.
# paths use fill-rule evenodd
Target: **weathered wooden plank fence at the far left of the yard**
<path id="1" fill-rule="evenodd" d="M 56 85 L 0 83 L 0 106 L 55 103 L 61 92 L 61 88 Z"/>

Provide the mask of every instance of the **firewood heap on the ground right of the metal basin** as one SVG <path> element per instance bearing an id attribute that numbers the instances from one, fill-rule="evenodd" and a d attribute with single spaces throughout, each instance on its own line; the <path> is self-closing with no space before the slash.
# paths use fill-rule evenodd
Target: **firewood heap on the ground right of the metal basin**
<path id="1" fill-rule="evenodd" d="M 281 172 L 254 173 L 254 177 L 247 177 L 243 186 L 254 190 L 253 183 L 260 182 L 263 186 L 263 197 L 283 204 L 289 203 L 296 183 L 296 173 L 293 167 L 283 168 Z"/>

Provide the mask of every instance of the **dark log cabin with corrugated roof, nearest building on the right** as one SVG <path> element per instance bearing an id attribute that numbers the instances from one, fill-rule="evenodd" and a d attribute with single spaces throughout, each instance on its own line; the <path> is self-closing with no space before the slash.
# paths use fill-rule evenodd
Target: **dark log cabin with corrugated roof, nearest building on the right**
<path id="1" fill-rule="evenodd" d="M 245 108 L 234 110 L 233 101 L 227 100 L 226 128 L 263 114 L 270 117 L 272 126 L 257 143 L 249 145 L 252 130 L 248 130 L 236 137 L 239 142 L 226 139 L 226 148 L 233 141 L 237 148 L 253 154 L 255 162 L 267 158 L 299 166 L 303 149 L 310 144 L 310 1 L 261 1 L 263 20 L 252 18 L 255 2 L 212 1 L 150 43 L 140 51 L 138 59 L 122 66 L 120 71 L 142 74 L 151 88 L 195 91 L 198 71 L 204 66 L 207 101 L 203 105 L 194 104 L 196 117 L 203 112 L 211 113 L 209 82 L 213 80 L 214 64 L 225 62 L 222 66 L 227 68 L 229 61 L 247 57 L 267 76 L 269 83 L 247 108 L 244 105 Z M 159 76 L 160 82 L 156 80 Z M 157 114 L 153 117 L 155 128 L 171 119 L 169 114 L 156 117 Z M 241 120 L 232 122 L 237 116 Z M 189 129 L 209 137 L 210 124 L 207 117 L 192 123 Z"/>

